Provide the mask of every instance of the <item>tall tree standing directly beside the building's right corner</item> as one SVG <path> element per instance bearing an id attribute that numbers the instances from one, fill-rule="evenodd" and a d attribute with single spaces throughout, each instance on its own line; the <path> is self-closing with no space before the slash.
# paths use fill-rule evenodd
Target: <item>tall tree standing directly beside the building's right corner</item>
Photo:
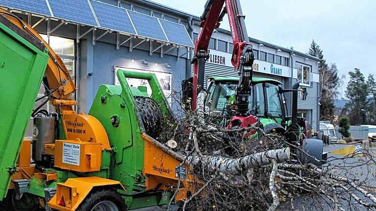
<path id="1" fill-rule="evenodd" d="M 324 59 L 323 50 L 312 40 L 308 54 L 319 58 L 319 77 L 320 77 L 320 120 L 333 122 L 334 120 L 334 99 L 338 95 L 339 77 L 338 69 L 335 63 L 327 64 Z"/>

